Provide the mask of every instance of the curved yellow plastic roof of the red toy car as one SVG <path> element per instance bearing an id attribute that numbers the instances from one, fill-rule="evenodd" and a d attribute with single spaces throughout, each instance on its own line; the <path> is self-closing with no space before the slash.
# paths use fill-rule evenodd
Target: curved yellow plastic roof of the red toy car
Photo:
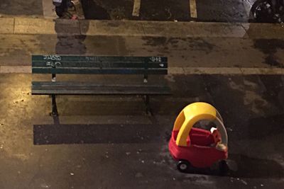
<path id="1" fill-rule="evenodd" d="M 200 120 L 215 120 L 216 116 L 217 110 L 209 103 L 192 103 L 187 105 L 175 120 L 173 130 L 179 130 L 175 143 L 178 146 L 186 147 L 186 139 L 193 125 Z"/>

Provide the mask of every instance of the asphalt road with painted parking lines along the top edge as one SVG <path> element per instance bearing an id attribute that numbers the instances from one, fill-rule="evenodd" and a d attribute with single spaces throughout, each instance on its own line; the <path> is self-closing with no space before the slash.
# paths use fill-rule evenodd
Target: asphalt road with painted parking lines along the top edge
<path id="1" fill-rule="evenodd" d="M 137 6 L 134 4 L 134 0 L 82 0 L 82 7 L 86 19 L 247 22 L 253 1 L 141 0 L 139 1 L 141 4 L 138 6 L 138 16 L 133 16 L 133 7 Z M 0 14 L 2 16 L 55 17 L 55 13 L 48 11 L 53 8 L 50 2 L 51 0 L 3 0 L 0 3 Z M 193 8 L 193 12 L 195 12 L 193 17 L 192 11 L 190 11 L 192 2 L 196 5 L 196 8 Z M 44 15 L 43 12 L 48 12 L 48 15 Z"/>

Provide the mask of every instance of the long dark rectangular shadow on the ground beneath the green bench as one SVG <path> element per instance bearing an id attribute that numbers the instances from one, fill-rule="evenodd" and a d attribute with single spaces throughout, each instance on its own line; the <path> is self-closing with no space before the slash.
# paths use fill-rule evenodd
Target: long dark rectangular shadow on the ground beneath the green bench
<path id="1" fill-rule="evenodd" d="M 158 125 L 139 124 L 54 124 L 33 125 L 33 144 L 133 144 L 160 139 Z"/>

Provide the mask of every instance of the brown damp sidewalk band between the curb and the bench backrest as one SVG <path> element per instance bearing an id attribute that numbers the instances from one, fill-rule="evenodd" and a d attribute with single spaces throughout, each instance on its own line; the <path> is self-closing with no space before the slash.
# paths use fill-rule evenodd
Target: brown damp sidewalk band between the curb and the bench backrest
<path id="1" fill-rule="evenodd" d="M 0 40 L 0 65 L 6 66 L 29 66 L 31 55 L 54 53 L 166 56 L 170 67 L 283 68 L 284 61 L 282 39 L 0 35 Z"/>

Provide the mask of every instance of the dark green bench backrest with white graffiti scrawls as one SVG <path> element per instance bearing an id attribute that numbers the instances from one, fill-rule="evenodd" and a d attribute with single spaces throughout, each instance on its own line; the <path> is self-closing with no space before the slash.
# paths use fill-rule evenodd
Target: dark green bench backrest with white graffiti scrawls
<path id="1" fill-rule="evenodd" d="M 33 55 L 33 74 L 168 74 L 167 57 Z"/>

